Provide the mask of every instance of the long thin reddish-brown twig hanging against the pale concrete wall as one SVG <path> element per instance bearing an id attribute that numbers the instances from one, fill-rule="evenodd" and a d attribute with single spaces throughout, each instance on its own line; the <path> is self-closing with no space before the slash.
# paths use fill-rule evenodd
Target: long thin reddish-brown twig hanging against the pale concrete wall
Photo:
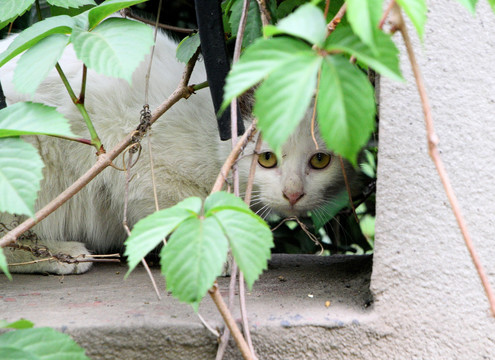
<path id="1" fill-rule="evenodd" d="M 398 19 L 398 23 L 394 24 L 394 26 L 401 32 L 402 38 L 404 39 L 404 44 L 406 46 L 407 54 L 409 56 L 409 61 L 411 62 L 414 79 L 416 80 L 416 86 L 418 88 L 419 96 L 421 98 L 421 104 L 423 106 L 423 113 L 424 113 L 426 132 L 427 132 L 429 155 L 433 160 L 435 167 L 437 168 L 438 174 L 440 176 L 440 180 L 445 189 L 445 193 L 447 194 L 447 198 L 449 199 L 450 206 L 452 207 L 452 211 L 457 220 L 457 224 L 459 225 L 459 229 L 461 230 L 462 236 L 464 238 L 464 242 L 466 243 L 466 247 L 469 251 L 469 254 L 471 255 L 471 259 L 474 263 L 476 270 L 478 271 L 478 275 L 484 287 L 486 296 L 488 298 L 488 302 L 490 304 L 492 316 L 495 317 L 495 295 L 493 294 L 493 291 L 490 286 L 490 281 L 488 280 L 485 270 L 483 269 L 483 265 L 481 264 L 479 256 L 474 248 L 473 242 L 468 233 L 467 225 L 461 213 L 459 202 L 457 201 L 457 197 L 454 193 L 454 190 L 448 178 L 447 171 L 438 152 L 438 148 L 437 148 L 438 137 L 435 133 L 435 129 L 433 126 L 433 116 L 431 114 L 431 108 L 429 105 L 428 96 L 426 94 L 426 88 L 423 82 L 423 77 L 421 75 L 421 71 L 416 61 L 416 56 L 414 55 L 411 39 L 407 32 L 400 8 L 398 7 L 397 4 L 394 5 L 392 11 L 394 12 L 395 18 Z"/>

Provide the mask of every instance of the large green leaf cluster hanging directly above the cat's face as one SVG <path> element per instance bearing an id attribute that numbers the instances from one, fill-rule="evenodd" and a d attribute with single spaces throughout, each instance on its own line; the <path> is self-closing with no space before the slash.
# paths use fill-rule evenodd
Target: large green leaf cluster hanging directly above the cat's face
<path id="1" fill-rule="evenodd" d="M 363 16 L 377 26 L 374 13 Z M 351 26 L 342 24 L 328 35 L 322 10 L 304 4 L 276 26 L 265 26 L 265 37 L 246 48 L 227 77 L 223 107 L 257 86 L 253 113 L 264 139 L 279 151 L 308 107 L 316 104 L 326 145 L 356 164 L 374 129 L 375 101 L 366 75 L 349 57 L 394 79 L 402 76 L 390 36 L 379 30 L 369 36 L 362 19 L 348 20 Z M 361 24 L 358 31 L 355 22 Z"/>

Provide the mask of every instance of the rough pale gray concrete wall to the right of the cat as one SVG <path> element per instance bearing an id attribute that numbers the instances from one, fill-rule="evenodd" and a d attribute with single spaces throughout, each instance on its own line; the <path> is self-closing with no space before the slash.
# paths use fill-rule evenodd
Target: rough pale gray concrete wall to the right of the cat
<path id="1" fill-rule="evenodd" d="M 495 15 L 429 1 L 418 61 L 442 159 L 495 287 Z M 411 29 L 411 27 L 409 27 Z M 412 33 L 412 30 L 410 31 Z M 436 170 L 411 67 L 407 83 L 380 83 L 375 326 L 389 332 L 377 358 L 495 359 L 495 319 Z M 377 328 L 378 329 L 378 328 Z"/>

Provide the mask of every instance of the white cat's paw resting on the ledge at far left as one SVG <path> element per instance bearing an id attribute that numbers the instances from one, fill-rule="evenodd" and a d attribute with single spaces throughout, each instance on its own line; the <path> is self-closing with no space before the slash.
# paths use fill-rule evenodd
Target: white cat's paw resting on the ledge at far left
<path id="1" fill-rule="evenodd" d="M 23 245 L 26 246 L 25 243 L 23 243 Z M 72 262 L 72 259 L 83 259 L 86 255 L 90 255 L 86 246 L 80 242 L 57 241 L 46 242 L 43 245 L 30 244 L 28 246 L 32 249 L 41 249 L 41 251 L 47 250 L 54 255 L 54 257 L 37 257 L 29 251 L 7 248 L 5 255 L 7 257 L 10 272 L 69 275 L 85 273 L 92 266 L 91 262 Z M 34 250 L 34 252 L 36 252 L 36 250 Z M 57 260 L 56 258 L 60 260 Z M 64 258 L 67 258 L 68 261 L 63 261 Z"/>

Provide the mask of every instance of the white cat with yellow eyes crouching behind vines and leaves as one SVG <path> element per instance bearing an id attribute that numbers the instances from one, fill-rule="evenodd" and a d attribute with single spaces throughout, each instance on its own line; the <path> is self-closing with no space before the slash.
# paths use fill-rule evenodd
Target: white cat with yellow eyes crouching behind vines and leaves
<path id="1" fill-rule="evenodd" d="M 0 51 L 4 51 L 10 41 L 0 42 Z M 179 83 L 184 64 L 176 60 L 175 49 L 176 44 L 166 35 L 158 35 L 149 85 L 150 109 L 166 99 Z M 148 61 L 149 57 L 135 71 L 132 86 L 124 80 L 88 71 L 86 108 L 106 149 L 111 149 L 139 123 Z M 65 50 L 60 65 L 78 93 L 82 64 L 72 48 Z M 75 134 L 89 138 L 80 113 L 55 71 L 50 73 L 34 98 L 30 99 L 15 91 L 12 84 L 14 68 L 15 61 L 0 68 L 0 82 L 8 104 L 32 100 L 55 106 L 70 119 Z M 204 66 L 199 62 L 190 83 L 205 80 Z M 246 123 L 249 123 L 249 119 Z M 95 149 L 87 145 L 47 136 L 25 138 L 39 149 L 45 163 L 37 209 L 72 184 L 96 161 Z M 131 228 L 155 209 L 145 141 L 139 161 L 132 169 L 136 176 L 129 185 L 127 220 Z M 161 208 L 172 206 L 189 196 L 207 196 L 231 146 L 229 141 L 219 140 L 208 90 L 198 91 L 189 99 L 181 100 L 165 113 L 152 127 L 151 142 Z M 322 206 L 344 189 L 338 158 L 326 150 L 321 139 L 318 139 L 318 143 L 319 150 L 310 135 L 308 116 L 283 147 L 281 159 L 276 159 L 271 149 L 263 144 L 255 177 L 256 195 L 253 202 L 257 204 L 256 208 L 265 215 L 269 208 L 284 216 L 302 216 L 308 210 Z M 249 172 L 253 148 L 254 144 L 251 143 L 239 161 L 243 185 Z M 115 164 L 121 166 L 121 156 Z M 347 171 L 350 177 L 354 176 L 349 167 Z M 88 249 L 96 253 L 120 250 L 126 238 L 122 225 L 124 185 L 124 172 L 113 168 L 104 170 L 73 199 L 33 228 L 39 244 L 47 246 L 52 253 L 74 256 L 88 254 Z M 0 223 L 7 227 L 12 220 L 12 216 L 6 214 L 0 217 Z M 27 244 L 32 245 L 32 242 L 28 240 Z M 28 252 L 8 248 L 4 250 L 9 263 L 32 260 Z M 83 273 L 90 266 L 90 263 L 40 262 L 11 266 L 10 270 L 70 274 Z"/>

